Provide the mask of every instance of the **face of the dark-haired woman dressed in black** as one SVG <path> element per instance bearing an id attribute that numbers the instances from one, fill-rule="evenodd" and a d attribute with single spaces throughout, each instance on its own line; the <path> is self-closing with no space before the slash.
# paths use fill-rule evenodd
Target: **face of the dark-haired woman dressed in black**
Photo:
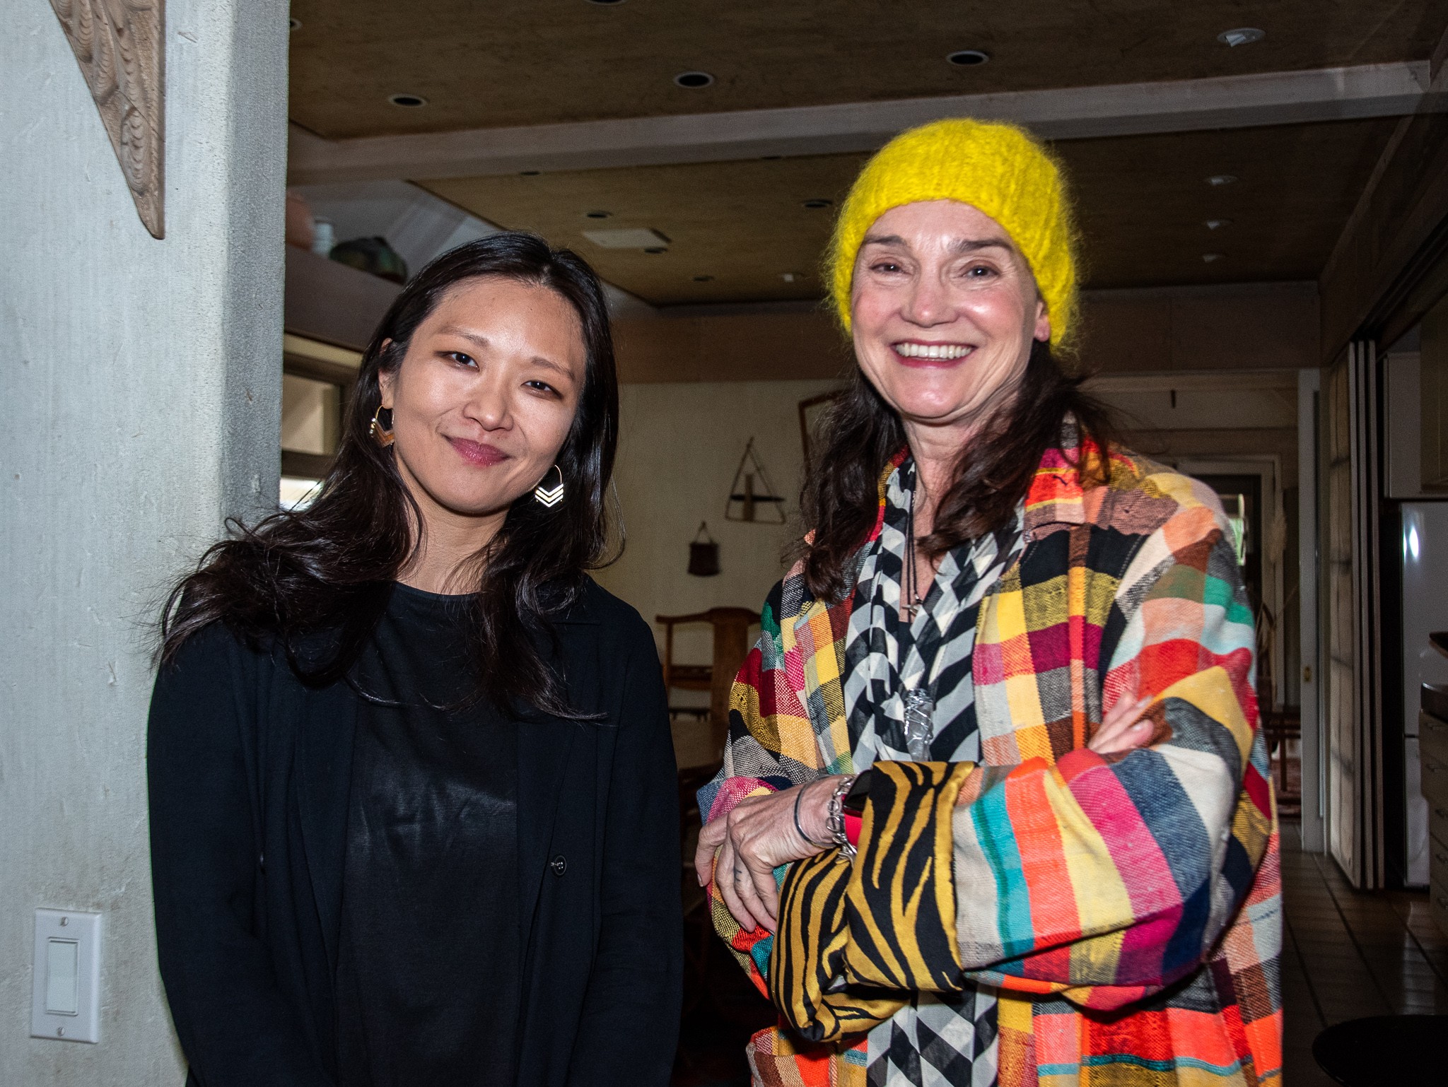
<path id="1" fill-rule="evenodd" d="M 495 531 L 517 498 L 556 479 L 585 368 L 582 323 L 556 291 L 478 278 L 443 295 L 379 375 L 397 468 L 430 531 Z"/>

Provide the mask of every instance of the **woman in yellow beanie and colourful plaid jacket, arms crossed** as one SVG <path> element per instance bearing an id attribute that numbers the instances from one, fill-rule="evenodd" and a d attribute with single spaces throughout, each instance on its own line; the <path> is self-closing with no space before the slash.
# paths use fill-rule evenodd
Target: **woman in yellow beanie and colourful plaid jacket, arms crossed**
<path id="1" fill-rule="evenodd" d="M 1203 485 L 1109 439 L 1057 165 L 947 120 L 830 250 L 859 368 L 696 857 L 756 1084 L 1280 1084 L 1253 615 Z"/>

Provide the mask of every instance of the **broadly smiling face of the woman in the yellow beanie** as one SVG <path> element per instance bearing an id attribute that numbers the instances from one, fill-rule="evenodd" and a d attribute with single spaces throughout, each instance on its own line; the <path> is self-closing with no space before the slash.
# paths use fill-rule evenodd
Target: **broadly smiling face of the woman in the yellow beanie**
<path id="1" fill-rule="evenodd" d="M 970 204 L 891 208 L 854 261 L 860 369 L 917 439 L 959 441 L 1005 402 L 1048 340 L 1050 317 L 1005 229 Z M 915 450 L 921 453 L 919 449 Z"/>

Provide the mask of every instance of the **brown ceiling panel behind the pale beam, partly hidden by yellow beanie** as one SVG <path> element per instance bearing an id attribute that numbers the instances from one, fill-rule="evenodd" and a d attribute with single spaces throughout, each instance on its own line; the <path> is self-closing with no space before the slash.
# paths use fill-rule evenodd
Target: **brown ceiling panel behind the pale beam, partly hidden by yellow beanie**
<path id="1" fill-rule="evenodd" d="M 1394 122 L 1069 140 L 1093 288 L 1312 279 Z M 656 305 L 820 298 L 835 207 L 863 155 L 420 182 L 501 226 L 542 233 Z M 1213 187 L 1206 178 L 1238 179 Z M 589 211 L 607 211 L 591 219 Z M 1209 230 L 1209 219 L 1231 220 Z M 602 249 L 595 227 L 652 227 L 668 252 Z M 1221 253 L 1206 262 L 1203 253 Z M 789 274 L 792 281 L 783 276 Z M 699 276 L 708 276 L 701 279 Z"/>

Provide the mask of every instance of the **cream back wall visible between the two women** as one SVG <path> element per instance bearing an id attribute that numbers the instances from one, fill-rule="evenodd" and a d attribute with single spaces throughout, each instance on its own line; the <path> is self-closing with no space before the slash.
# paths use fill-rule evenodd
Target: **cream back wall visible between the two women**
<path id="1" fill-rule="evenodd" d="M 615 481 L 628 543 L 623 559 L 595 575 L 598 582 L 649 622 L 660 614 L 724 605 L 759 611 L 783 573 L 783 550 L 799 533 L 799 401 L 835 386 L 830 381 L 621 386 Z M 724 520 L 730 483 L 752 436 L 770 482 L 789 499 L 788 524 Z M 715 578 L 686 572 L 699 521 L 708 521 L 720 543 Z M 662 630 L 656 631 L 662 647 Z M 678 656 L 707 664 L 707 628 L 688 637 L 681 630 Z"/>

